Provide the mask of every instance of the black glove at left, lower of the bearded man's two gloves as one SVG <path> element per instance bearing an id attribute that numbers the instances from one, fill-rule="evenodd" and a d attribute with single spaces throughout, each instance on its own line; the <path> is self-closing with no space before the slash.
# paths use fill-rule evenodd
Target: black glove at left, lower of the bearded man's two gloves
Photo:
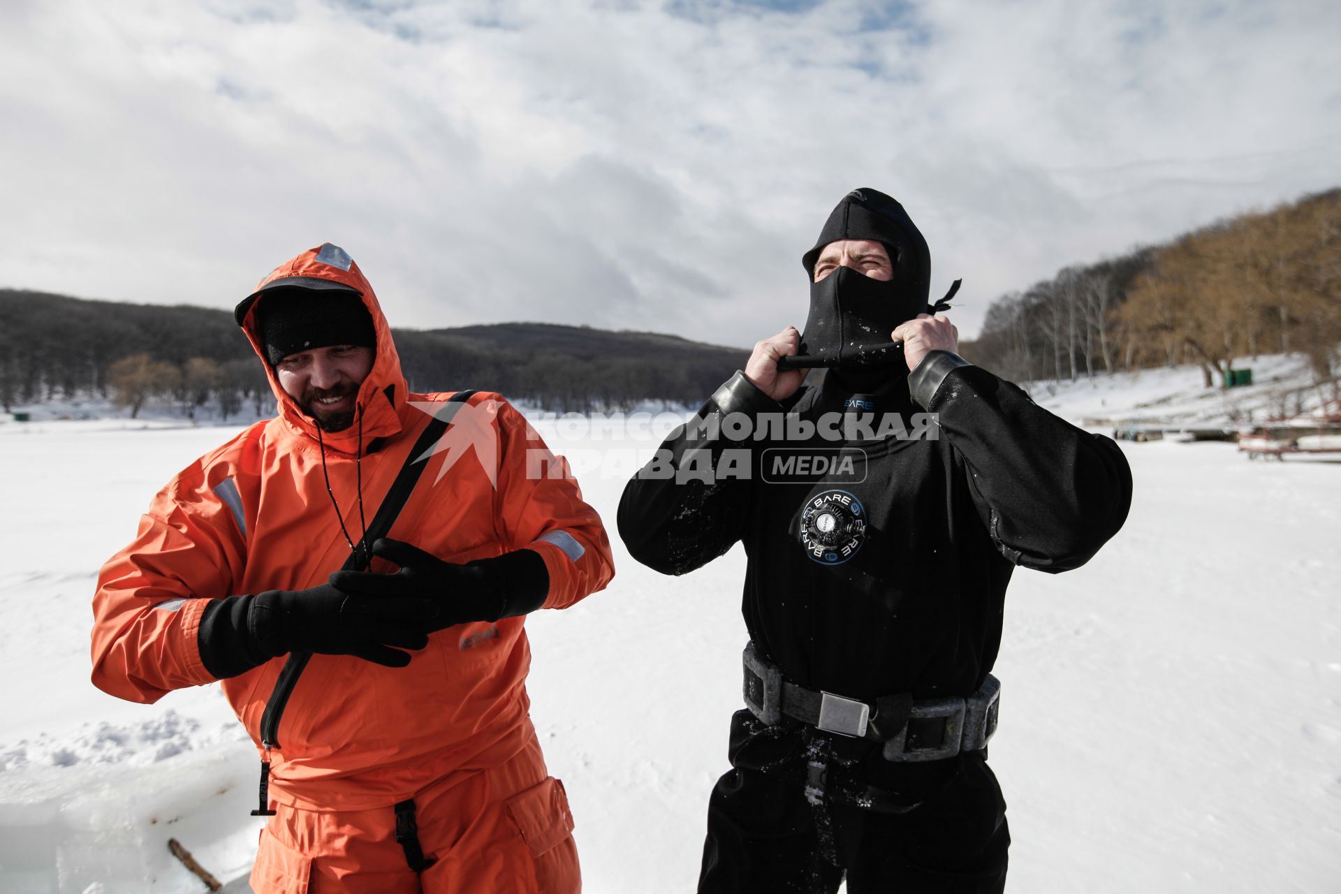
<path id="1" fill-rule="evenodd" d="M 236 677 L 287 651 L 355 655 L 388 667 L 410 663 L 437 607 L 429 599 L 370 599 L 322 584 L 213 599 L 200 619 L 200 658 L 215 677 Z M 396 646 L 394 649 L 392 646 Z"/>

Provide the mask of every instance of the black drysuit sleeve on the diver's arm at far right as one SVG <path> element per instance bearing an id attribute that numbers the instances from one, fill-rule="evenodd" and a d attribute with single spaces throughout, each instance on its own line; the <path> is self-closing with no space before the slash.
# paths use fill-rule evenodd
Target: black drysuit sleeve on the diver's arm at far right
<path id="1" fill-rule="evenodd" d="M 908 383 L 913 399 L 939 414 L 983 524 L 1010 562 L 1078 568 L 1122 527 L 1132 472 L 1110 438 L 949 351 L 928 354 Z"/>

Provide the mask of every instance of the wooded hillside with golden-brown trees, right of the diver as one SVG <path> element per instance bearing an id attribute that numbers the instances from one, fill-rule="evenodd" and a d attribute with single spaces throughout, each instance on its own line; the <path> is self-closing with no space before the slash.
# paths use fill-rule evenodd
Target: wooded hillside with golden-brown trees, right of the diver
<path id="1" fill-rule="evenodd" d="M 1341 189 L 1220 220 L 996 299 L 964 355 L 1016 381 L 1298 351 L 1317 381 L 1341 355 Z"/>

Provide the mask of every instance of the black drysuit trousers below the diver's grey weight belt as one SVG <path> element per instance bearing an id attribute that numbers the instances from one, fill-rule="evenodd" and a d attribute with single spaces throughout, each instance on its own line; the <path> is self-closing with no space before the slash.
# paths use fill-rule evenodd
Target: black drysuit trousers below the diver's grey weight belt
<path id="1" fill-rule="evenodd" d="M 892 764 L 876 743 L 740 710 L 730 757 L 700 894 L 833 894 L 845 875 L 849 894 L 1004 889 L 1006 802 L 982 752 Z"/>

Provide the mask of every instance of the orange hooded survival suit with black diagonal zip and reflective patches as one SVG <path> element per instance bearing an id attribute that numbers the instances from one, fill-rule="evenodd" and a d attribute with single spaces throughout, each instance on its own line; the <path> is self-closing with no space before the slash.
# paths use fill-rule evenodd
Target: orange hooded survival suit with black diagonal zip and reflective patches
<path id="1" fill-rule="evenodd" d="M 93 602 L 99 689 L 153 702 L 213 682 L 197 646 L 207 602 L 325 583 L 350 554 L 337 505 L 357 539 L 359 491 L 370 517 L 430 421 L 432 406 L 414 403 L 451 397 L 408 391 L 371 287 L 339 249 L 335 257 L 347 263 L 325 263 L 330 248 L 303 252 L 261 285 L 319 277 L 362 295 L 377 346 L 357 398 L 361 432 L 323 432 L 318 441 L 314 421 L 264 361 L 252 306 L 241 324 L 279 413 L 180 472 L 135 539 L 103 566 Z M 605 587 L 614 574 L 609 539 L 566 464 L 498 394 L 475 394 L 468 405 L 463 411 L 483 420 L 496 449 L 476 442 L 430 457 L 388 536 L 453 563 L 534 550 L 548 571 L 547 609 Z M 392 567 L 374 559 L 371 570 Z M 257 748 L 283 665 L 271 659 L 223 681 Z M 520 617 L 434 633 L 406 667 L 312 655 L 279 722 L 278 748 L 261 748 L 278 815 L 261 832 L 252 887 L 578 890 L 563 788 L 544 769 L 528 716 L 528 667 Z M 396 842 L 392 806 L 405 799 L 418 806 L 420 842 L 436 860 L 422 874 L 409 870 Z"/>

